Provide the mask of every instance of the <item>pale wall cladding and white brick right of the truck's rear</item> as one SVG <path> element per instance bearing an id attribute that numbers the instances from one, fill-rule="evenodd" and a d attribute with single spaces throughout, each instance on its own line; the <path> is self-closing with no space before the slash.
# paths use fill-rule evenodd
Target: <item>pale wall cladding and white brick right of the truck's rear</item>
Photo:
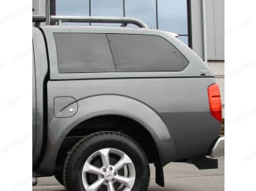
<path id="1" fill-rule="evenodd" d="M 224 0 L 204 0 L 208 65 L 221 91 L 224 118 Z M 202 0 L 191 0 L 192 49 L 203 58 Z"/>

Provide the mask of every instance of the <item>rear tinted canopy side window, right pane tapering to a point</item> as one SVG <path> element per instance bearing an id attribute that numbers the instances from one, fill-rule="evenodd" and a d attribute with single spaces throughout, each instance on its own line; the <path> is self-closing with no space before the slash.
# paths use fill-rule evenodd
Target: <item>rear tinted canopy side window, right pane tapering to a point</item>
<path id="1" fill-rule="evenodd" d="M 188 62 L 165 39 L 154 35 L 108 34 L 117 72 L 181 71 Z"/>

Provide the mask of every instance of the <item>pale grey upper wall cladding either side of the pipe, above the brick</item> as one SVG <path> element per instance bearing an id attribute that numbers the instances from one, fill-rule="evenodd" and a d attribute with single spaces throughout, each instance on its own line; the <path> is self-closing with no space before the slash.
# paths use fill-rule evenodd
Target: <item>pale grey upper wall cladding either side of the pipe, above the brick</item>
<path id="1" fill-rule="evenodd" d="M 206 3 L 207 52 L 209 60 L 224 60 L 224 0 Z M 192 49 L 203 57 L 202 0 L 191 0 Z"/>

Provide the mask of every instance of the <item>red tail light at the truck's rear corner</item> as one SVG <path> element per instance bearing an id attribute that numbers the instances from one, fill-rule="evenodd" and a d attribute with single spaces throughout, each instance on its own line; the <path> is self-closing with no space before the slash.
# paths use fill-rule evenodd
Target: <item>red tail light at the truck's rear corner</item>
<path id="1" fill-rule="evenodd" d="M 216 83 L 208 86 L 208 97 L 210 113 L 221 122 L 221 94 Z"/>

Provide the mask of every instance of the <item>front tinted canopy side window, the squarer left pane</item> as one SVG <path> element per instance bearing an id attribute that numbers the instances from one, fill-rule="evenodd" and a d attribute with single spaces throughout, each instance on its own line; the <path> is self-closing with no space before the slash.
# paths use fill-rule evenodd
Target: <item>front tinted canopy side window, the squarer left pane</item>
<path id="1" fill-rule="evenodd" d="M 105 34 L 55 33 L 60 73 L 116 72 Z"/>

